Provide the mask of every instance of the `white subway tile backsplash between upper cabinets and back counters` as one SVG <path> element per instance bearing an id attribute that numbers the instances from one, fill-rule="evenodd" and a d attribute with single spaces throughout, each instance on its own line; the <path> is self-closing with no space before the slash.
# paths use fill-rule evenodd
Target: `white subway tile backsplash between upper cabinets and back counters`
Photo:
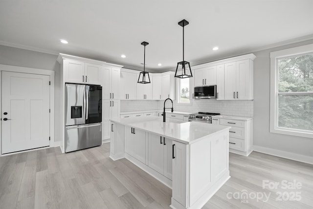
<path id="1" fill-rule="evenodd" d="M 169 102 L 170 103 L 170 102 Z M 121 100 L 121 112 L 141 110 L 162 110 L 164 100 Z M 168 104 L 170 106 L 170 104 Z M 230 101 L 216 99 L 193 100 L 192 105 L 181 105 L 174 101 L 174 111 L 182 112 L 210 112 L 230 116 L 253 117 L 253 101 Z"/>

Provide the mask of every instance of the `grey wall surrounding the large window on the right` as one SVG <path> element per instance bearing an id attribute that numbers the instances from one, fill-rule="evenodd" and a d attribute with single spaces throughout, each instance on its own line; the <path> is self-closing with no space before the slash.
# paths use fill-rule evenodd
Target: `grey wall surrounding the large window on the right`
<path id="1" fill-rule="evenodd" d="M 312 44 L 313 40 L 253 52 L 254 128 L 253 145 L 313 157 L 313 139 L 269 133 L 270 58 L 269 52 Z M 277 153 L 279 153 L 279 151 Z M 286 154 L 286 153 L 285 153 Z M 279 155 L 279 154 L 278 154 Z M 286 156 L 284 156 L 286 157 Z"/>

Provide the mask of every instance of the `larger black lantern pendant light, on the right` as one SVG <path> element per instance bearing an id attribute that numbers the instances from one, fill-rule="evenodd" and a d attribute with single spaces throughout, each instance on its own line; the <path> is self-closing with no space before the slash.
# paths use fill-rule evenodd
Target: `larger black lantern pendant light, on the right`
<path id="1" fill-rule="evenodd" d="M 189 78 L 189 77 L 192 77 L 190 64 L 189 64 L 189 62 L 184 60 L 184 26 L 189 24 L 189 22 L 186 20 L 182 20 L 178 24 L 180 26 L 182 26 L 182 61 L 177 63 L 175 77 L 177 77 L 177 78 Z"/>

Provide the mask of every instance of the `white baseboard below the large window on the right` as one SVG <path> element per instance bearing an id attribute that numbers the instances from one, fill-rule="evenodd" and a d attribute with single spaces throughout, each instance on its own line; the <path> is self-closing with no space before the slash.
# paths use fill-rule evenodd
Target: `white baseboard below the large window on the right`
<path id="1" fill-rule="evenodd" d="M 272 149 L 272 148 L 262 147 L 262 146 L 257 146 L 257 145 L 253 145 L 253 151 L 261 152 L 261 153 L 265 153 L 268 155 L 273 155 L 273 156 L 277 156 L 281 158 L 286 158 L 286 159 L 290 159 L 293 161 L 299 161 L 302 163 L 313 164 L 313 157 L 306 156 L 306 155 L 300 155 L 296 153 L 286 152 L 286 151 L 282 151 L 278 149 Z"/>

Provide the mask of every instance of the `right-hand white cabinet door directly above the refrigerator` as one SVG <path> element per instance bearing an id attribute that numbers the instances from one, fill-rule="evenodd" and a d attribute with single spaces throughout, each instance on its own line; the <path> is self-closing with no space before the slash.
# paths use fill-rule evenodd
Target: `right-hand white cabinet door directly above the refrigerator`
<path id="1" fill-rule="evenodd" d="M 87 84 L 101 85 L 102 66 L 85 63 L 85 78 Z"/>

